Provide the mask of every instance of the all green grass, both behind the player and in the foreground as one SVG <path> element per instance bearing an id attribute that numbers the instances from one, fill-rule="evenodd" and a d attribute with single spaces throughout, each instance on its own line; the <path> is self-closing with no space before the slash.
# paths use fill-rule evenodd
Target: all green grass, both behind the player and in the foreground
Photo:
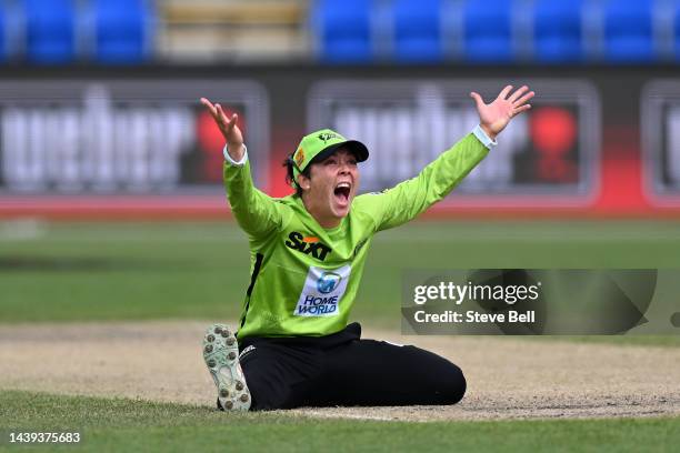
<path id="1" fill-rule="evenodd" d="M 679 256 L 680 222 L 416 223 L 377 236 L 353 318 L 398 330 L 407 269 L 678 268 Z M 248 280 L 246 236 L 230 222 L 0 224 L 0 329 L 23 322 L 236 319 Z M 668 335 L 574 340 L 680 346 L 680 336 Z M 0 450 L 8 447 L 9 429 L 58 427 L 81 430 L 88 451 L 674 451 L 680 443 L 680 419 L 404 423 L 282 412 L 226 416 L 204 406 L 0 389 Z"/>

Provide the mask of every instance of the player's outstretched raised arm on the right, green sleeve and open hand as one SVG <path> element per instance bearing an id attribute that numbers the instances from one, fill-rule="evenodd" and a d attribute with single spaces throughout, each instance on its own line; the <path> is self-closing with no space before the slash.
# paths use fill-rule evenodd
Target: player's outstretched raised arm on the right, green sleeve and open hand
<path id="1" fill-rule="evenodd" d="M 471 92 L 479 113 L 479 127 L 428 164 L 416 178 L 376 194 L 358 197 L 354 203 L 376 221 L 376 230 L 408 222 L 442 200 L 496 145 L 496 138 L 510 120 L 531 108 L 533 91 L 522 87 L 512 94 L 503 88 L 489 104 Z"/>

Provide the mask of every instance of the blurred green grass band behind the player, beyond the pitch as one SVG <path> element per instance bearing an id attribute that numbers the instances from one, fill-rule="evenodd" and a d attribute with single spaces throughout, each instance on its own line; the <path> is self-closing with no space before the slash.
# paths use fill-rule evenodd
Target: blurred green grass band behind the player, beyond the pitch
<path id="1" fill-rule="evenodd" d="M 249 256 L 233 223 L 31 228 L 21 239 L 0 235 L 2 322 L 214 320 L 240 312 Z M 678 268 L 679 256 L 673 222 L 416 223 L 376 238 L 354 318 L 398 329 L 408 269 Z"/>

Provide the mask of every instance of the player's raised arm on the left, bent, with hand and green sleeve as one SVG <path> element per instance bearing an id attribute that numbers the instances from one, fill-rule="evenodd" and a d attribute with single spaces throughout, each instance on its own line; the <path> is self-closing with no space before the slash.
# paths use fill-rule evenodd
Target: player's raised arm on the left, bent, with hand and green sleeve
<path id="1" fill-rule="evenodd" d="M 253 185 L 243 134 L 237 125 L 239 117 L 234 113 L 228 118 L 219 103 L 212 104 L 206 98 L 201 103 L 227 141 L 223 175 L 231 211 L 251 239 L 264 239 L 283 224 L 284 208 Z"/>

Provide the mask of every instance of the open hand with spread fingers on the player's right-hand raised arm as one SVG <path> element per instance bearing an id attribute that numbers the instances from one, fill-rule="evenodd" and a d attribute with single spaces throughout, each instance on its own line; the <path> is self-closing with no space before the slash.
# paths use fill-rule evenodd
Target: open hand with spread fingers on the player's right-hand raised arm
<path id="1" fill-rule="evenodd" d="M 513 117 L 531 109 L 531 104 L 528 104 L 527 101 L 533 98 L 534 92 L 529 91 L 529 87 L 523 85 L 512 94 L 510 91 L 512 91 L 512 85 L 503 88 L 498 98 L 489 104 L 486 104 L 481 95 L 474 91 L 470 93 L 470 98 L 474 99 L 477 104 L 479 124 L 491 140 L 496 140 L 496 137 L 506 129 Z"/>

